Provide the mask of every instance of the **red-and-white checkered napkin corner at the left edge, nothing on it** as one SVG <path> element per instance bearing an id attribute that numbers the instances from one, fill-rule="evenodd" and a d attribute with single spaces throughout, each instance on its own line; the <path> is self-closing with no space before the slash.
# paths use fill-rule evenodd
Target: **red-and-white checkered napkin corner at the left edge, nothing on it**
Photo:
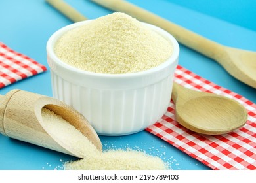
<path id="1" fill-rule="evenodd" d="M 0 88 L 46 71 L 46 67 L 0 42 Z"/>

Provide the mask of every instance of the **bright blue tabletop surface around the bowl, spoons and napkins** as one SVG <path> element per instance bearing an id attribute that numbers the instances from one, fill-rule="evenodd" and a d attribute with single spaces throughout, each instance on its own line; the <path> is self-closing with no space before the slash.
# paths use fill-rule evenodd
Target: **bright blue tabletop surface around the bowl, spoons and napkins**
<path id="1" fill-rule="evenodd" d="M 66 2 L 89 19 L 111 13 L 110 10 L 90 1 L 69 0 Z M 256 8 L 252 0 L 243 1 L 242 6 L 238 0 L 229 2 L 229 4 L 221 0 L 214 1 L 214 3 L 212 1 L 209 4 L 211 6 L 205 6 L 205 1 L 200 0 L 190 3 L 175 0 L 130 0 L 130 2 L 213 41 L 236 48 L 256 50 Z M 0 94 L 4 95 L 18 88 L 52 96 L 45 46 L 54 31 L 72 22 L 43 0 L 0 1 L 0 22 L 1 42 L 35 59 L 48 69 L 45 73 L 1 89 Z M 180 46 L 179 65 L 256 103 L 254 88 L 232 78 L 212 59 L 205 58 L 185 46 Z M 100 136 L 100 139 L 104 149 L 139 148 L 149 154 L 167 159 L 172 169 L 209 169 L 200 161 L 146 131 L 121 137 Z M 0 169 L 62 169 L 62 161 L 71 159 L 76 158 L 0 135 Z"/>

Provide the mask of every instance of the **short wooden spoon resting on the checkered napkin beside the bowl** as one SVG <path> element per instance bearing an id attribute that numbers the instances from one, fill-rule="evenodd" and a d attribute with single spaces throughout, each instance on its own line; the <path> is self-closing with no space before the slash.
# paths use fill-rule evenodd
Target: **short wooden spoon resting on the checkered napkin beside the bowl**
<path id="1" fill-rule="evenodd" d="M 219 135 L 242 127 L 247 110 L 237 101 L 214 93 L 197 92 L 173 83 L 175 118 L 184 127 L 206 135 Z"/>

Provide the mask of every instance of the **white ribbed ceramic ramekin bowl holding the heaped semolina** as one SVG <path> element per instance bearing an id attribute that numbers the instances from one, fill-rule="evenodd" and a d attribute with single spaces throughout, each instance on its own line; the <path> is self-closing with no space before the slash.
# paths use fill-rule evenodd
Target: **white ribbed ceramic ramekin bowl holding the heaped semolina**
<path id="1" fill-rule="evenodd" d="M 115 75 L 83 71 L 61 61 L 54 54 L 54 44 L 66 31 L 89 21 L 63 27 L 47 42 L 53 97 L 83 114 L 99 135 L 127 135 L 146 129 L 167 111 L 179 44 L 163 29 L 143 23 L 173 44 L 171 58 L 158 67 L 138 73 Z"/>

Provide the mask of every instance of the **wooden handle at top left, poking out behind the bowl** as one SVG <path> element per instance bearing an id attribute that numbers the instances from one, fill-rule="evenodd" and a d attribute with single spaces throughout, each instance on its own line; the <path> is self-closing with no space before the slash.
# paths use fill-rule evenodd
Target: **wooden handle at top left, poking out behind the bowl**
<path id="1" fill-rule="evenodd" d="M 72 8 L 68 3 L 65 3 L 62 0 L 46 0 L 47 3 L 52 5 L 54 8 L 62 12 L 66 17 L 70 18 L 73 22 L 80 22 L 87 20 L 83 14 L 79 13 L 77 10 Z"/>

